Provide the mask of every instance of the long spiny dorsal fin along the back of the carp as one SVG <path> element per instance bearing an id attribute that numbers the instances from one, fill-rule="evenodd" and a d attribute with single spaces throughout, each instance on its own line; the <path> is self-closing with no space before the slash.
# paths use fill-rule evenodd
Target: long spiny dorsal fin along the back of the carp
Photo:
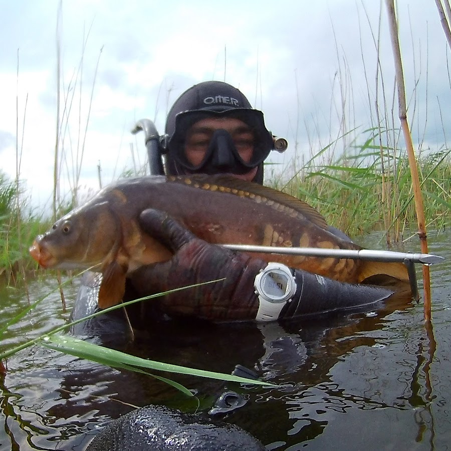
<path id="1" fill-rule="evenodd" d="M 326 230 L 327 222 L 324 216 L 320 214 L 315 208 L 308 203 L 300 200 L 290 194 L 286 194 L 281 191 L 277 191 L 267 186 L 262 186 L 258 183 L 242 180 L 232 175 L 217 174 L 217 175 L 205 175 L 205 174 L 192 174 L 181 176 L 170 176 L 169 181 L 177 183 L 185 183 L 193 187 L 222 191 L 220 187 L 225 188 L 227 192 L 237 194 L 258 201 L 268 202 L 271 201 L 271 206 L 277 209 L 278 205 L 291 208 L 292 210 L 302 214 L 306 219 L 313 222 L 319 228 Z M 257 200 L 256 200 L 257 201 Z"/>

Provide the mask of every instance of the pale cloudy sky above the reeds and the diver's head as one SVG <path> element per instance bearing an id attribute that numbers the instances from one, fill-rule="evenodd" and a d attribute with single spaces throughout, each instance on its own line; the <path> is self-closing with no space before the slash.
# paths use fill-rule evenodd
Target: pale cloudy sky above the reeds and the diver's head
<path id="1" fill-rule="evenodd" d="M 340 135 L 343 117 L 363 141 L 374 124 L 379 18 L 378 101 L 384 88 L 392 105 L 387 14 L 377 0 L 63 0 L 59 35 L 58 0 L 0 4 L 0 168 L 14 179 L 19 161 L 36 205 L 49 204 L 53 186 L 58 42 L 64 189 L 75 167 L 78 185 L 97 189 L 99 164 L 103 184 L 142 164 L 135 122 L 150 118 L 163 132 L 171 104 L 203 80 L 239 87 L 288 138 L 290 149 L 273 158 L 279 171 Z M 400 0 L 398 16 L 415 146 L 438 150 L 451 131 L 451 89 L 435 2 Z M 394 114 L 398 126 L 396 102 Z"/>

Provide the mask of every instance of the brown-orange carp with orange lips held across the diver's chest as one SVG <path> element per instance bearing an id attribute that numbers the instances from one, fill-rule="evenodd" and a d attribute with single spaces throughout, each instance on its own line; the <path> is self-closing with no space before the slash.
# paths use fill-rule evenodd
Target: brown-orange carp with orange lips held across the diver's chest
<path id="1" fill-rule="evenodd" d="M 102 273 L 99 307 L 116 305 L 131 272 L 172 256 L 162 243 L 141 230 L 139 215 L 148 208 L 165 211 L 211 244 L 362 249 L 330 233 L 325 218 L 296 197 L 230 175 L 195 174 L 113 182 L 38 236 L 30 254 L 43 268 L 90 268 Z M 340 282 L 365 283 L 374 277 L 408 281 L 402 263 L 270 253 L 258 256 Z"/>

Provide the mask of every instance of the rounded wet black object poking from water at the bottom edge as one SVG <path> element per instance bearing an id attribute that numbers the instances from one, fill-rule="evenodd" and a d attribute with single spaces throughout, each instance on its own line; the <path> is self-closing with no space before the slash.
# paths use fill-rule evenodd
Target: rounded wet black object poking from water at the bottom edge
<path id="1" fill-rule="evenodd" d="M 265 446 L 234 424 L 167 407 L 141 407 L 111 421 L 86 451 L 263 451 Z"/>

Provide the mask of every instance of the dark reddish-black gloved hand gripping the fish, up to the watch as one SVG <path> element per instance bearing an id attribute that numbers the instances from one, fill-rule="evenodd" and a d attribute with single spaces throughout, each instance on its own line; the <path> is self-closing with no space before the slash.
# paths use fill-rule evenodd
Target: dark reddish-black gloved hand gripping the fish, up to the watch
<path id="1" fill-rule="evenodd" d="M 259 300 L 254 280 L 266 262 L 208 244 L 159 210 L 147 209 L 139 220 L 145 233 L 174 253 L 171 260 L 143 266 L 129 276 L 141 296 L 225 278 L 168 294 L 159 305 L 169 315 L 214 321 L 255 319 Z"/>

